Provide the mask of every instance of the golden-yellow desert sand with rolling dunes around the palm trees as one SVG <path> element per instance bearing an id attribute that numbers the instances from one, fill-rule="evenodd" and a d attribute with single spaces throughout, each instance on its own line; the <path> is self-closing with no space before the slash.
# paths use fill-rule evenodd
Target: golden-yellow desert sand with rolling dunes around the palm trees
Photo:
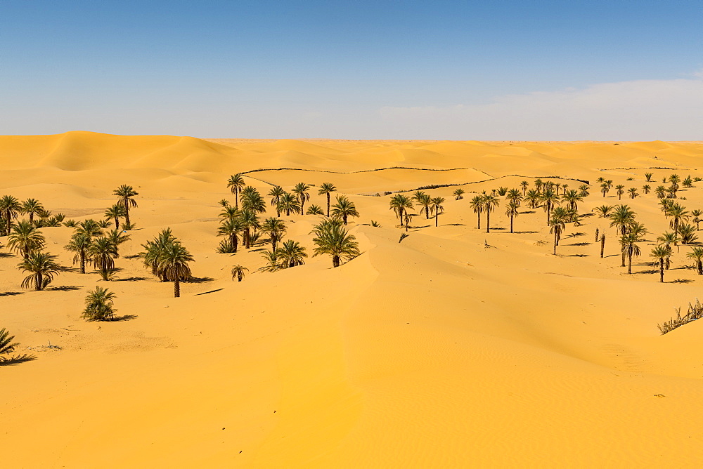
<path id="1" fill-rule="evenodd" d="M 701 157 L 701 143 L 0 137 L 0 195 L 83 220 L 101 218 L 118 185 L 139 192 L 116 281 L 62 272 L 47 291 L 23 291 L 18 256 L 0 249 L 0 327 L 38 357 L 0 367 L 3 465 L 699 467 L 703 323 L 665 336 L 657 323 L 703 279 L 686 247 L 664 284 L 646 265 L 668 229 L 654 193 L 623 199 L 650 231 L 633 275 L 602 218 L 568 225 L 553 256 L 541 209 L 523 206 L 510 234 L 503 202 L 486 234 L 469 201 L 526 179 L 588 180 L 579 209 L 589 213 L 618 203 L 596 178 L 642 192 L 647 171 L 652 187 L 671 173 L 703 177 Z M 318 256 L 252 273 L 263 246 L 215 253 L 226 180 L 254 169 L 266 171 L 245 180 L 264 195 L 271 184 L 337 185 L 361 212 L 350 230 L 363 254 L 337 269 Z M 446 197 L 439 227 L 417 216 L 399 244 L 383 194 L 446 184 L 427 190 Z M 703 183 L 680 195 L 703 209 Z M 324 205 L 316 189 L 311 202 Z M 311 251 L 317 217 L 283 218 L 287 239 Z M 164 227 L 196 259 L 198 282 L 181 298 L 124 257 Z M 608 236 L 603 259 L 596 227 Z M 72 229 L 42 232 L 70 266 Z M 244 282 L 231 281 L 233 264 L 250 269 Z M 96 285 L 136 317 L 80 319 Z"/>

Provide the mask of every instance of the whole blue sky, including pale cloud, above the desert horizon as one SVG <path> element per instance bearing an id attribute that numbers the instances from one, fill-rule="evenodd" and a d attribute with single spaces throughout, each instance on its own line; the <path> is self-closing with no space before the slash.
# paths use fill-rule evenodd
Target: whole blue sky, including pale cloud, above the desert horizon
<path id="1" fill-rule="evenodd" d="M 701 25 L 701 1 L 0 0 L 0 133 L 703 140 Z"/>

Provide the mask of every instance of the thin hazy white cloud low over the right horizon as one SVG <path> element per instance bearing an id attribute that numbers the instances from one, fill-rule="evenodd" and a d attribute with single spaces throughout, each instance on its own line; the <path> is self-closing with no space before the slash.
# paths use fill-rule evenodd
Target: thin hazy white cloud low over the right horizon
<path id="1" fill-rule="evenodd" d="M 399 138 L 703 140 L 703 70 L 690 79 L 621 81 L 485 105 L 383 107 Z"/>

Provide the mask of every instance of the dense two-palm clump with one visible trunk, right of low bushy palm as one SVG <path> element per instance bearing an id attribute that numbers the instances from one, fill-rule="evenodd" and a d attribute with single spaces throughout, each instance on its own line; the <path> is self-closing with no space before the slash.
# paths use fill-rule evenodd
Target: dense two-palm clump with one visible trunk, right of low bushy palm
<path id="1" fill-rule="evenodd" d="M 157 236 L 141 245 L 143 251 L 138 256 L 145 267 L 151 270 L 161 282 L 174 282 L 174 297 L 181 296 L 181 282 L 193 277 L 188 263 L 195 262 L 191 253 L 177 239 L 171 228 L 161 230 Z"/>

